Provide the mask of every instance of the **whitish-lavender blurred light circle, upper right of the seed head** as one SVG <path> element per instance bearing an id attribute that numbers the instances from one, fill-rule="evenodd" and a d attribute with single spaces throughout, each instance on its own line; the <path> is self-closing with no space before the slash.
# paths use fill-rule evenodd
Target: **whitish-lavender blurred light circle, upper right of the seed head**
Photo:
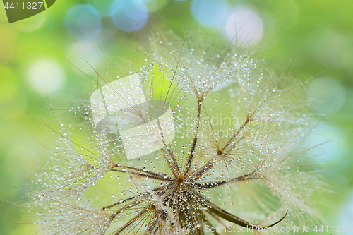
<path id="1" fill-rule="evenodd" d="M 225 34 L 238 45 L 256 44 L 263 37 L 263 20 L 251 9 L 237 8 L 228 16 Z"/>

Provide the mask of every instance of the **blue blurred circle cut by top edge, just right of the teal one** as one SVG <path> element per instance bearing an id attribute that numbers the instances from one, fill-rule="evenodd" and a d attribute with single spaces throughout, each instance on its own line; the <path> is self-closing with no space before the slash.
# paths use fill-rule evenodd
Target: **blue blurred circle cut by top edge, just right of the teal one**
<path id="1" fill-rule="evenodd" d="M 116 28 L 126 32 L 140 30 L 148 21 L 148 8 L 140 0 L 115 0 L 109 15 Z"/>

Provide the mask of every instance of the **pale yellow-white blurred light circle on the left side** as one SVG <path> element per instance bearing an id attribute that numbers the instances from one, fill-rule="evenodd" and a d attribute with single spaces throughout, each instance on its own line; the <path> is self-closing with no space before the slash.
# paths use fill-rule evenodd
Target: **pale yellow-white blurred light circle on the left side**
<path id="1" fill-rule="evenodd" d="M 64 85 L 65 80 L 62 68 L 54 61 L 47 59 L 35 61 L 28 70 L 28 85 L 40 95 L 58 91 Z"/>

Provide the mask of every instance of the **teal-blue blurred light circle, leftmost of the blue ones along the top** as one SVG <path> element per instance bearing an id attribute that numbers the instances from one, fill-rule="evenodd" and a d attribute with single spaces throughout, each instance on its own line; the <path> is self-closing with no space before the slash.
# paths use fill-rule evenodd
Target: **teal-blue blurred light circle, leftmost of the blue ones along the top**
<path id="1" fill-rule="evenodd" d="M 92 40 L 102 30 L 102 17 L 92 5 L 76 5 L 65 16 L 68 33 L 78 40 Z"/>

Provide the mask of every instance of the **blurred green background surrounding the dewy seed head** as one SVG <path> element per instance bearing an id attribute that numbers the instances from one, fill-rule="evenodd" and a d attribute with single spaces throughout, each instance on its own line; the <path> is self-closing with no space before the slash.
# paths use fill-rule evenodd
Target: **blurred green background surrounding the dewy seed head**
<path id="1" fill-rule="evenodd" d="M 25 193 L 21 189 L 26 189 L 31 181 L 28 171 L 43 164 L 46 146 L 51 141 L 36 118 L 57 128 L 56 114 L 49 109 L 76 106 L 76 101 L 88 99 L 92 90 L 85 83 L 87 78 L 66 60 L 87 69 L 87 64 L 78 59 L 85 58 L 85 54 L 70 57 L 69 51 L 76 39 L 64 27 L 64 17 L 77 4 L 93 4 L 98 10 L 104 10 L 109 2 L 58 0 L 47 11 L 13 24 L 8 24 L 0 4 L 1 235 L 33 231 L 32 224 L 18 222 L 23 208 L 15 204 L 23 199 Z M 332 109 L 335 109 L 323 121 L 328 134 L 317 134 L 318 139 L 329 140 L 329 147 L 323 148 L 328 157 L 322 162 L 318 157 L 318 163 L 325 167 L 323 181 L 328 191 L 318 191 L 313 200 L 328 225 L 353 225 L 353 1 L 229 0 L 228 4 L 229 8 L 251 8 L 262 18 L 261 53 L 278 73 L 290 73 L 299 80 L 315 76 L 309 81 L 309 87 L 311 83 L 320 84 L 314 83 L 315 80 L 331 78 L 340 85 L 340 92 L 345 93 L 336 109 L 335 97 L 331 101 L 322 100 L 323 105 L 333 102 Z M 187 25 L 196 23 L 190 11 L 191 1 L 150 0 L 148 6 L 150 21 L 142 30 L 127 33 L 116 29 L 109 39 L 96 39 L 103 53 L 128 57 L 133 38 L 145 39 L 153 31 L 153 25 L 178 34 Z M 109 18 L 103 19 L 104 25 L 109 23 Z M 220 29 L 208 30 L 222 35 Z M 100 56 L 97 53 L 97 58 Z M 88 61 L 94 63 L 97 58 Z M 30 88 L 28 70 L 38 59 L 54 61 L 63 71 L 66 80 L 56 92 L 39 94 Z M 345 234 L 353 234 L 353 229 Z"/>

